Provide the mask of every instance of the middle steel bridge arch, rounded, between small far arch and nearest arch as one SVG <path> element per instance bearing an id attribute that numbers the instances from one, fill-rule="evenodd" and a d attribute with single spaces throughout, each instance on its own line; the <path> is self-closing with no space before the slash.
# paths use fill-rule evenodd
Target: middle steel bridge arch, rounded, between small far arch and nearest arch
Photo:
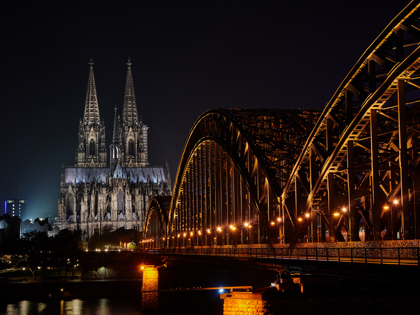
<path id="1" fill-rule="evenodd" d="M 277 242 L 270 221 L 279 216 L 283 186 L 319 114 L 275 109 L 203 113 L 178 166 L 167 235 L 192 233 L 203 235 L 206 244 L 237 244 L 252 242 L 254 232 L 254 243 Z M 213 235 L 218 228 L 226 238 Z M 204 244 L 203 238 L 197 244 Z"/>

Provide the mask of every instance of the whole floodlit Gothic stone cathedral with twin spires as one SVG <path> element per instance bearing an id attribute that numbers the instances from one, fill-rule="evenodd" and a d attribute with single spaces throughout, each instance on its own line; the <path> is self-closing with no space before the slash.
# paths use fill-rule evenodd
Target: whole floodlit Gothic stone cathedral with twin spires
<path id="1" fill-rule="evenodd" d="M 172 194 L 168 162 L 151 166 L 147 161 L 148 127 L 137 113 L 130 60 L 121 117 L 115 108 L 108 162 L 92 59 L 89 65 L 76 163 L 63 165 L 55 226 L 86 231 L 87 236 L 104 226 L 142 231 L 149 200 Z"/>

